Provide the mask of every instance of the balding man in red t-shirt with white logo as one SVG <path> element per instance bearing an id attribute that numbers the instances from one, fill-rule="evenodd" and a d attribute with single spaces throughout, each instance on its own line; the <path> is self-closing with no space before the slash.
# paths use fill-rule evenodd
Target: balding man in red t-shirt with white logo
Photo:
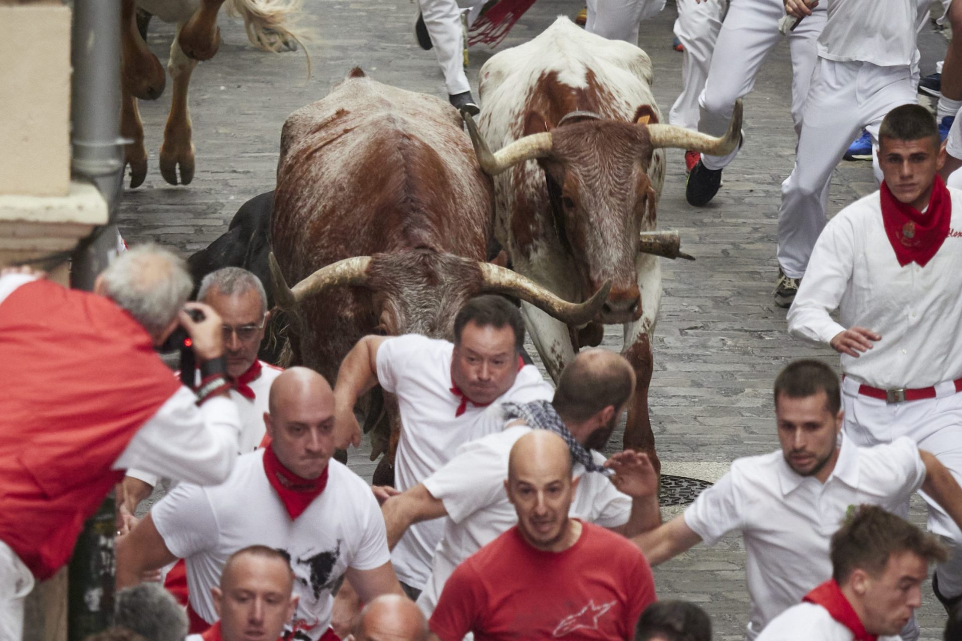
<path id="1" fill-rule="evenodd" d="M 577 480 L 550 431 L 511 450 L 508 499 L 518 525 L 458 566 L 444 584 L 432 639 L 628 639 L 655 601 L 651 568 L 619 534 L 569 518 Z"/>

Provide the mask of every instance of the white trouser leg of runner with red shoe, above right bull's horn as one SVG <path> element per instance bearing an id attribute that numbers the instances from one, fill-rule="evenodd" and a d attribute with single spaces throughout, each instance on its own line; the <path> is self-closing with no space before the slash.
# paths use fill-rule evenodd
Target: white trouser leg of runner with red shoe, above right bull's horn
<path id="1" fill-rule="evenodd" d="M 681 82 L 684 88 L 671 105 L 668 121 L 678 127 L 698 128 L 698 96 L 705 88 L 708 66 L 712 62 L 715 41 L 722 30 L 726 0 L 678 0 L 678 19 L 674 35 L 685 47 L 681 58 Z"/>

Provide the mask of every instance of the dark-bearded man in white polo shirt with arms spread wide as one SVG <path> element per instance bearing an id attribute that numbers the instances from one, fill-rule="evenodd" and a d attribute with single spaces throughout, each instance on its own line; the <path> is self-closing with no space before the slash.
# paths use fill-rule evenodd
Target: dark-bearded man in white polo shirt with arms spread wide
<path id="1" fill-rule="evenodd" d="M 828 365 L 790 363 L 775 379 L 773 395 L 781 450 L 736 459 L 683 514 L 635 537 L 654 566 L 699 542 L 714 545 L 730 531 L 741 532 L 749 640 L 831 578 L 829 539 L 849 505 L 907 509 L 909 497 L 923 488 L 962 521 L 962 488 L 911 439 L 864 448 L 841 437 L 846 412 Z M 918 636 L 917 628 L 914 634 L 906 638 Z"/>

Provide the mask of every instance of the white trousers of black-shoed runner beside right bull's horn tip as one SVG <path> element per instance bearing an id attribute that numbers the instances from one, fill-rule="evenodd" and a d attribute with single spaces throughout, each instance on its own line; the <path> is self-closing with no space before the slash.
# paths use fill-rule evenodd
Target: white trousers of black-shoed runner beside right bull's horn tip
<path id="1" fill-rule="evenodd" d="M 788 36 L 792 55 L 792 120 L 796 135 L 800 132 L 801 111 L 808 95 L 812 70 L 818 60 L 816 40 L 825 26 L 825 4 L 819 3 L 812 14 L 798 23 L 796 30 Z M 699 132 L 722 136 L 727 131 L 735 101 L 754 88 L 759 67 L 782 37 L 778 31 L 778 20 L 784 15 L 785 7 L 781 0 L 729 2 L 708 69 L 708 79 L 698 97 L 698 106 L 701 108 Z M 722 169 L 737 155 L 738 149 L 735 149 L 727 156 L 702 155 L 701 161 L 709 169 Z"/>

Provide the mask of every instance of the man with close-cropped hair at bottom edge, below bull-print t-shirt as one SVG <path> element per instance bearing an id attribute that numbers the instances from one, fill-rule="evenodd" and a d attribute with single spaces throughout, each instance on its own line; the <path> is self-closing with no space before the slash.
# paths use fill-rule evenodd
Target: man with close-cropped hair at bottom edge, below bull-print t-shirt
<path id="1" fill-rule="evenodd" d="M 294 574 L 284 553 L 252 545 L 228 557 L 220 585 L 211 588 L 220 620 L 204 635 L 185 641 L 281 641 L 284 626 L 294 615 Z"/>

